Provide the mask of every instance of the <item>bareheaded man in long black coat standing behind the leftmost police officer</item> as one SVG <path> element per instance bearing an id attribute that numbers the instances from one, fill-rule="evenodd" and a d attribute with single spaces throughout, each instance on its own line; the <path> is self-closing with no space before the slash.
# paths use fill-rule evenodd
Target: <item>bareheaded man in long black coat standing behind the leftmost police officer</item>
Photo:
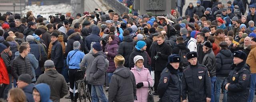
<path id="1" fill-rule="evenodd" d="M 157 95 L 157 86 L 160 80 L 160 74 L 166 67 L 166 63 L 168 62 L 168 56 L 171 55 L 172 49 L 170 45 L 164 42 L 165 37 L 162 34 L 157 36 L 157 42 L 154 42 L 151 47 L 151 67 L 155 71 L 155 84 L 154 84 L 154 95 Z"/>

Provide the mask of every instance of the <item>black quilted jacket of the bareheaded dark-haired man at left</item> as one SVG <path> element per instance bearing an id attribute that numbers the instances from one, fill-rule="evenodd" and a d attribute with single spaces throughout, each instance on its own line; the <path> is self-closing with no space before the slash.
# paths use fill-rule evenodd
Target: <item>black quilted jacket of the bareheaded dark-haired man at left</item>
<path id="1" fill-rule="evenodd" d="M 30 59 L 19 55 L 12 61 L 12 76 L 18 80 L 18 77 L 23 73 L 30 75 L 33 79 Z"/>

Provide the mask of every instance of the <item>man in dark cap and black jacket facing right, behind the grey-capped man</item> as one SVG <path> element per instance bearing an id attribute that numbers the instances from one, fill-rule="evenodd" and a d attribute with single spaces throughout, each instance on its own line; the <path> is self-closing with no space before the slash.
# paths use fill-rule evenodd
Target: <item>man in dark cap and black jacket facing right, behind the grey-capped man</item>
<path id="1" fill-rule="evenodd" d="M 62 54 L 62 45 L 58 41 L 58 33 L 52 33 L 51 35 L 52 43 L 52 52 L 51 60 L 54 62 L 54 66 L 58 73 L 61 74 L 62 67 L 64 66 L 63 54 Z"/>

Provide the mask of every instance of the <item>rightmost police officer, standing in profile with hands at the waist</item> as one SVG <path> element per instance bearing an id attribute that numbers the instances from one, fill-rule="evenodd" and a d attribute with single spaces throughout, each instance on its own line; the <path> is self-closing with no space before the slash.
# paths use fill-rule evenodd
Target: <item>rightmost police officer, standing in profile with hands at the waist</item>
<path id="1" fill-rule="evenodd" d="M 226 80 L 227 102 L 247 102 L 250 90 L 250 67 L 246 64 L 246 53 L 234 52 L 234 64 Z"/>

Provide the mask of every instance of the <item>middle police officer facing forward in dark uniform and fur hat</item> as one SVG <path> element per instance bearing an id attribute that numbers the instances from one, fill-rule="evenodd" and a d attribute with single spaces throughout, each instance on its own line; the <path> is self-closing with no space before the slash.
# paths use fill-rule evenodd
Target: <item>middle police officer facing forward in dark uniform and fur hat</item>
<path id="1" fill-rule="evenodd" d="M 190 65 L 183 70 L 182 102 L 210 102 L 211 79 L 207 68 L 197 61 L 197 53 L 189 52 L 186 55 Z M 213 99 L 214 100 L 214 99 Z"/>

